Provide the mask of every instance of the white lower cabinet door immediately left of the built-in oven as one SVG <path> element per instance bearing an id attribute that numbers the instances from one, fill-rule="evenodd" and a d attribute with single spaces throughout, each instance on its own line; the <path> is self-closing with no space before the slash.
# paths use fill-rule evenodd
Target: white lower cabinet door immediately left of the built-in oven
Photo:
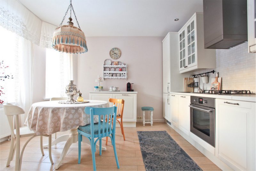
<path id="1" fill-rule="evenodd" d="M 190 96 L 177 95 L 179 104 L 179 119 L 178 119 L 178 128 L 183 131 L 185 134 L 189 135 L 190 133 Z"/>

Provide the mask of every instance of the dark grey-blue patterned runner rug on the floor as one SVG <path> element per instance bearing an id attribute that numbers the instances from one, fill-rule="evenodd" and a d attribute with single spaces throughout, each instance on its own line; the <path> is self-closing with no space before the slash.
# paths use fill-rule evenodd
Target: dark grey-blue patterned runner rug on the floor
<path id="1" fill-rule="evenodd" d="M 166 131 L 137 131 L 146 170 L 202 170 Z"/>

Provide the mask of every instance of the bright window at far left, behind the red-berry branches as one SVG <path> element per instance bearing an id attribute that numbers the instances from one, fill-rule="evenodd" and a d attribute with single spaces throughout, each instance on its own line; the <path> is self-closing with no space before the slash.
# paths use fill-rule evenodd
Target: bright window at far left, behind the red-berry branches
<path id="1" fill-rule="evenodd" d="M 0 26 L 0 104 L 16 102 L 18 86 L 18 36 Z"/>

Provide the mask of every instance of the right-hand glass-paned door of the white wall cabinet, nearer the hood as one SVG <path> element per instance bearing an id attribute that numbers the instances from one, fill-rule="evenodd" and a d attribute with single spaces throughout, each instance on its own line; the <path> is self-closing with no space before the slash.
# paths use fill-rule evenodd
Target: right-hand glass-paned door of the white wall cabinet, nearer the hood
<path id="1" fill-rule="evenodd" d="M 195 22 L 192 21 L 187 27 L 188 37 L 188 65 L 196 62 L 195 59 Z"/>

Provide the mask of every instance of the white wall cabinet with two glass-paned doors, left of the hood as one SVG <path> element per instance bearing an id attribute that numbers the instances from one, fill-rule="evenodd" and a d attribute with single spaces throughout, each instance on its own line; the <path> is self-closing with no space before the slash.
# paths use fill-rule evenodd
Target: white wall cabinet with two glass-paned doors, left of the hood
<path id="1" fill-rule="evenodd" d="M 203 13 L 196 12 L 178 34 L 180 73 L 200 68 L 216 68 L 216 51 L 204 49 Z"/>

